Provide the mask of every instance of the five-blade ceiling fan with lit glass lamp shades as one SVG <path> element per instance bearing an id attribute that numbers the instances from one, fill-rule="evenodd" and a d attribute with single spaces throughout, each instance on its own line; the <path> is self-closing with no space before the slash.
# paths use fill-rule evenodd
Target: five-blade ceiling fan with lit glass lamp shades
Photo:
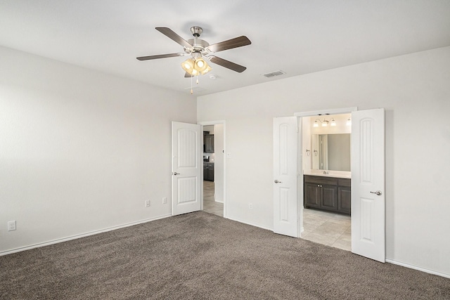
<path id="1" fill-rule="evenodd" d="M 202 34 L 203 32 L 202 27 L 191 27 L 191 32 L 194 38 L 189 39 L 188 41 L 180 37 L 168 27 L 156 27 L 155 30 L 158 30 L 166 37 L 169 37 L 169 39 L 172 39 L 176 41 L 176 43 L 183 46 L 184 53 L 169 53 L 157 56 L 141 56 L 137 58 L 138 60 L 154 60 L 159 58 L 172 58 L 176 56 L 191 56 L 191 58 L 188 58 L 188 60 L 181 63 L 181 67 L 186 71 L 184 77 L 203 75 L 212 70 L 212 68 L 207 64 L 204 58 L 209 60 L 211 63 L 221 65 L 222 67 L 226 67 L 227 69 L 239 73 L 244 72 L 245 69 L 247 69 L 242 65 L 238 65 L 236 63 L 232 63 L 229 60 L 224 60 L 224 58 L 214 56 L 212 55 L 212 53 L 250 45 L 252 44 L 252 42 L 250 41 L 250 39 L 248 39 L 248 37 L 235 37 L 234 39 L 229 39 L 226 41 L 221 41 L 217 44 L 210 45 L 207 41 L 200 39 L 200 34 Z"/>

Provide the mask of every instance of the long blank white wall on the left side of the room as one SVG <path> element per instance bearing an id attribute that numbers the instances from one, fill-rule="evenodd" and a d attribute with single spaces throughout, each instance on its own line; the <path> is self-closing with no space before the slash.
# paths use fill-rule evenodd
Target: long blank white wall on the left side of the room
<path id="1" fill-rule="evenodd" d="M 8 48 L 0 66 L 0 254 L 171 213 L 195 98 Z"/>

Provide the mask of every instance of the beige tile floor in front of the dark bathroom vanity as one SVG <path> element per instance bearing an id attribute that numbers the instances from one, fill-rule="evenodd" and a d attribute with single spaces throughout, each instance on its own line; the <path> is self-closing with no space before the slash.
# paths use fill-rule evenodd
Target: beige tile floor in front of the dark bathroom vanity
<path id="1" fill-rule="evenodd" d="M 315 209 L 303 209 L 302 238 L 352 251 L 350 216 Z"/>

